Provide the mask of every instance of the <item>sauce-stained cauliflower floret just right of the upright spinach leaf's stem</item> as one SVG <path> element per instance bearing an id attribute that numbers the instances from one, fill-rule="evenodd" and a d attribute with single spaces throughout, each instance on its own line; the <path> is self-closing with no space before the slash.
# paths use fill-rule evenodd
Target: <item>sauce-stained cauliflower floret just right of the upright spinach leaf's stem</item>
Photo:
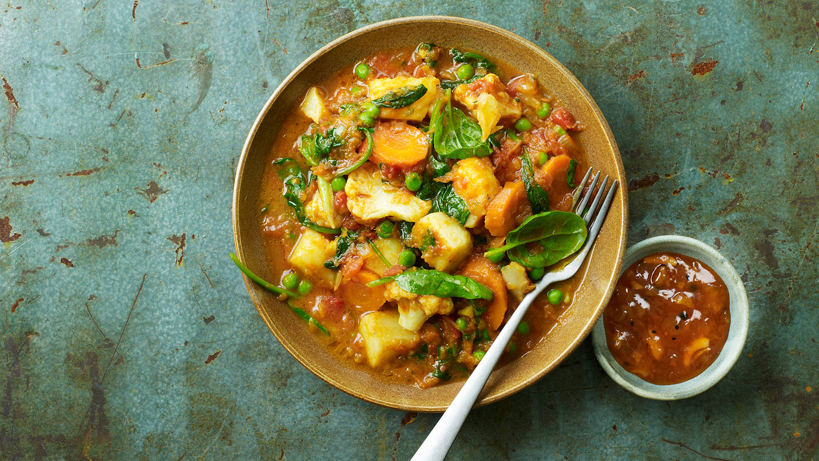
<path id="1" fill-rule="evenodd" d="M 498 127 L 501 118 L 520 118 L 520 103 L 506 93 L 506 86 L 495 74 L 486 74 L 468 84 L 455 87 L 455 101 L 469 110 L 481 126 L 482 141 Z"/>

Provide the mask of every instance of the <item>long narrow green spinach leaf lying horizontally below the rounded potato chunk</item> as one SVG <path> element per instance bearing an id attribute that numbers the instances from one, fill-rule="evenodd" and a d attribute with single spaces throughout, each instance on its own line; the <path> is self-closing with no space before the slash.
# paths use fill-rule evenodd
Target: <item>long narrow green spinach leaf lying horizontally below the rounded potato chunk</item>
<path id="1" fill-rule="evenodd" d="M 467 276 L 453 276 L 433 269 L 401 272 L 397 276 L 383 277 L 371 281 L 367 286 L 383 285 L 389 281 L 395 281 L 401 290 L 409 291 L 409 293 L 432 294 L 432 296 L 439 298 L 456 296 L 464 299 L 486 299 L 491 301 L 493 296 L 492 290 L 488 286 Z"/>

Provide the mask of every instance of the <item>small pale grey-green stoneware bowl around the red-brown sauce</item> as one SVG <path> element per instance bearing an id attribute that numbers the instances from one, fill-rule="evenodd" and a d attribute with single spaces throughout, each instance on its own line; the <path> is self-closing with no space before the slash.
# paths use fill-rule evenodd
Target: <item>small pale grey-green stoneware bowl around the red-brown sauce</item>
<path id="1" fill-rule="evenodd" d="M 731 266 L 731 262 L 728 262 L 722 254 L 707 244 L 681 235 L 659 235 L 632 245 L 626 250 L 622 271 L 625 271 L 638 259 L 661 251 L 681 253 L 699 259 L 699 261 L 704 262 L 716 271 L 722 281 L 725 282 L 728 288 L 731 326 L 728 328 L 728 338 L 725 345 L 722 346 L 722 352 L 717 356 L 717 359 L 702 373 L 688 381 L 678 384 L 658 385 L 627 372 L 625 368 L 617 363 L 609 351 L 609 345 L 606 344 L 606 332 L 602 316 L 595 325 L 592 341 L 600 365 L 609 374 L 609 377 L 626 390 L 631 390 L 631 392 L 646 399 L 687 399 L 717 384 L 722 377 L 725 377 L 728 370 L 734 366 L 736 359 L 740 357 L 745 344 L 745 337 L 748 335 L 748 297 L 745 295 L 745 288 L 740 280 L 740 274 Z"/>

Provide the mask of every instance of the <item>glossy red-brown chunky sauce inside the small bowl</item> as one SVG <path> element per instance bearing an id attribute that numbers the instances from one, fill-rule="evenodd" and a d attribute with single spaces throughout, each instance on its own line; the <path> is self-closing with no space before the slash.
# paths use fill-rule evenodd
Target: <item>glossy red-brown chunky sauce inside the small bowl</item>
<path id="1" fill-rule="evenodd" d="M 603 314 L 609 350 L 645 381 L 690 380 L 725 345 L 728 299 L 725 283 L 703 262 L 677 253 L 649 254 L 622 273 Z"/>

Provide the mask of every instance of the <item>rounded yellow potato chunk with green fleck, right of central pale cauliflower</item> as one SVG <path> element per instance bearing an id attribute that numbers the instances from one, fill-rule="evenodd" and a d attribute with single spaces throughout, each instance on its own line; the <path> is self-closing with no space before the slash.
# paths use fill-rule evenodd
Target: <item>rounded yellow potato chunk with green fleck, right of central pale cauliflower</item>
<path id="1" fill-rule="evenodd" d="M 409 244 L 421 249 L 421 257 L 442 272 L 453 272 L 472 253 L 472 235 L 444 212 L 422 217 L 413 226 Z"/>

